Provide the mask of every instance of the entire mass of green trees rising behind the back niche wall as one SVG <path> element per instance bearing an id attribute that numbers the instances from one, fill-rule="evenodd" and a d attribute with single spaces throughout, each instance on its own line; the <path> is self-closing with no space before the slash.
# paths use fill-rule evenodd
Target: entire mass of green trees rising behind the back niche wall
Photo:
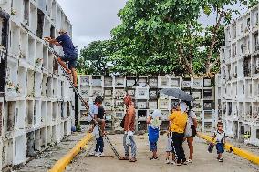
<path id="1" fill-rule="evenodd" d="M 217 72 L 223 25 L 238 13 L 232 7 L 237 3 L 253 6 L 257 0 L 129 0 L 119 11 L 122 23 L 111 31 L 112 39 L 82 50 L 82 59 L 93 63 L 81 64 L 134 76 Z M 215 14 L 214 25 L 199 23 L 202 13 Z M 107 63 L 112 66 L 105 68 Z"/>

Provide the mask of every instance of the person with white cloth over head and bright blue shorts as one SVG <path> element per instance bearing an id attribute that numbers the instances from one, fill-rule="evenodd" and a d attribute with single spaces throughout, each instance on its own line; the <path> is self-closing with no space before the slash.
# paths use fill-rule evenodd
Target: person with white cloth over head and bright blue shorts
<path id="1" fill-rule="evenodd" d="M 158 139 L 160 136 L 160 125 L 161 125 L 161 111 L 156 109 L 150 116 L 147 118 L 148 132 L 149 132 L 149 141 L 150 141 L 150 151 L 153 152 L 152 159 L 158 159 Z"/>

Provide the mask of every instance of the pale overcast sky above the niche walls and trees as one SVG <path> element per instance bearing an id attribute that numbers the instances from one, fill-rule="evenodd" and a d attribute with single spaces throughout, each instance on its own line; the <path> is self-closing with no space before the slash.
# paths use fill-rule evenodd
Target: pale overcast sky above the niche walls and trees
<path id="1" fill-rule="evenodd" d="M 117 16 L 127 0 L 57 0 L 73 25 L 74 44 L 82 48 L 95 40 L 109 39 L 110 30 L 119 25 Z M 237 5 L 236 5 L 237 6 Z M 245 10 L 241 11 L 243 14 Z M 236 16 L 235 16 L 236 17 Z M 202 16 L 204 25 L 215 17 Z"/>

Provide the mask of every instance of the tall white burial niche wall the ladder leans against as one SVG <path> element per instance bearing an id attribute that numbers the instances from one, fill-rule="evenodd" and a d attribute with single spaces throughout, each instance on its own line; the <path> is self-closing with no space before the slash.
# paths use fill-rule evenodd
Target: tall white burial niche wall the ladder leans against
<path id="1" fill-rule="evenodd" d="M 72 34 L 56 0 L 1 0 L 0 7 L 2 168 L 26 163 L 71 134 L 74 95 L 42 39 L 57 37 L 60 28 Z"/>

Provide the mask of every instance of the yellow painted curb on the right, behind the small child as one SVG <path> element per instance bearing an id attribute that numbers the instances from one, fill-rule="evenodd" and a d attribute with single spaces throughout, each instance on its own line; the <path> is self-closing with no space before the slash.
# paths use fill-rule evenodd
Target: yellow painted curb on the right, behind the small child
<path id="1" fill-rule="evenodd" d="M 198 133 L 197 135 L 198 135 L 198 137 L 201 137 L 205 140 L 208 140 L 210 142 L 212 141 L 212 137 L 209 137 L 209 136 L 204 135 L 202 133 Z M 236 154 L 240 157 L 246 158 L 246 159 L 250 160 L 251 162 L 254 162 L 254 164 L 259 164 L 259 156 L 256 156 L 251 152 L 248 152 L 248 151 L 243 150 L 243 149 L 238 148 L 238 147 L 233 147 L 233 145 L 231 145 L 229 143 L 225 144 L 225 149 L 230 151 L 230 152 L 233 152 L 234 154 Z"/>

